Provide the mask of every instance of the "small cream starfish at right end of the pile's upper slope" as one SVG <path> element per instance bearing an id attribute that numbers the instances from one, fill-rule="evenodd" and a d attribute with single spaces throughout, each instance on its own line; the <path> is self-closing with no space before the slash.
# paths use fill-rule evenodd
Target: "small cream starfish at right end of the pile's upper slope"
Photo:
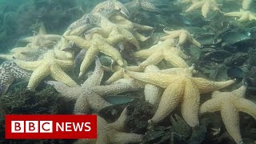
<path id="1" fill-rule="evenodd" d="M 190 34 L 189 31 L 187 30 L 174 30 L 174 31 L 168 31 L 168 30 L 163 30 L 166 34 L 169 34 L 167 36 L 164 36 L 160 38 L 160 40 L 166 40 L 169 38 L 176 38 L 178 37 L 178 45 L 183 45 L 187 41 L 192 42 L 195 46 L 202 47 L 202 45 L 195 40 L 192 35 Z"/>

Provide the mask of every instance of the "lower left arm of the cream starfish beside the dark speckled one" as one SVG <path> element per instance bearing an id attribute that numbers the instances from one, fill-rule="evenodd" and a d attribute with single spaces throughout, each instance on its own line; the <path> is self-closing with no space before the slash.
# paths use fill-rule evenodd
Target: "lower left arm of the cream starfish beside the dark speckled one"
<path id="1" fill-rule="evenodd" d="M 42 81 L 43 78 L 46 78 L 50 74 L 50 66 L 47 64 L 42 64 L 38 66 L 37 69 L 30 76 L 30 81 L 27 85 L 27 88 L 32 90 L 35 86 L 38 86 L 38 83 Z"/>

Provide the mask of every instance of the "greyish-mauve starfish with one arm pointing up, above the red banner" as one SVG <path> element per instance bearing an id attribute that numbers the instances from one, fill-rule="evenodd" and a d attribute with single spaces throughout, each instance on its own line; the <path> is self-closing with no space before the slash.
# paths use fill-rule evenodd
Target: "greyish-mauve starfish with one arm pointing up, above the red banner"
<path id="1" fill-rule="evenodd" d="M 106 106 L 110 106 L 102 96 L 107 94 L 118 94 L 128 90 L 138 90 L 132 81 L 122 81 L 113 85 L 100 86 L 103 77 L 102 65 L 96 57 L 94 73 L 81 86 L 70 87 L 62 82 L 48 81 L 46 83 L 54 88 L 66 98 L 76 99 L 74 114 L 87 114 L 92 108 L 99 111 Z"/>

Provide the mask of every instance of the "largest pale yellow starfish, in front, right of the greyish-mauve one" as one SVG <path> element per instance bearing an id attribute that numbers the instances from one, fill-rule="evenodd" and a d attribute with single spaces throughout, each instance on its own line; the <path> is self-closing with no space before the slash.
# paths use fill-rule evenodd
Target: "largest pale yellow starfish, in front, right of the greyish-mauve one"
<path id="1" fill-rule="evenodd" d="M 178 68 L 158 72 L 131 72 L 126 71 L 132 78 L 142 82 L 151 83 L 164 88 L 162 98 L 159 102 L 158 110 L 149 123 L 155 123 L 166 118 L 178 103 L 182 103 L 182 116 L 192 127 L 198 126 L 198 112 L 200 104 L 200 94 L 209 93 L 221 89 L 234 83 L 234 80 L 225 82 L 209 81 L 205 78 L 193 78 L 194 66 L 190 68 Z"/>

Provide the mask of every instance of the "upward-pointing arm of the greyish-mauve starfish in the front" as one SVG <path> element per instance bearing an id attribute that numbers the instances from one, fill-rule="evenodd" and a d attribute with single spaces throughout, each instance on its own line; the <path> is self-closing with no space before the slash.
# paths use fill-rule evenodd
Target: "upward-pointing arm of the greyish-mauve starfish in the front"
<path id="1" fill-rule="evenodd" d="M 95 57 L 94 73 L 86 79 L 86 81 L 82 84 L 82 87 L 100 85 L 100 83 L 102 82 L 103 74 L 104 70 L 102 69 L 102 64 L 99 61 L 98 57 Z"/>

